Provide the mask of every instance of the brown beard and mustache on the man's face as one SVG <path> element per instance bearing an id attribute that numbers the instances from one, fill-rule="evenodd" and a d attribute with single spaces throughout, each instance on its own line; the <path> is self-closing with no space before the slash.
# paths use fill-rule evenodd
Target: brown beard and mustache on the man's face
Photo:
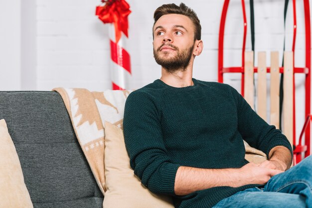
<path id="1" fill-rule="evenodd" d="M 176 71 L 182 72 L 185 71 L 193 55 L 194 45 L 192 45 L 189 49 L 179 51 L 179 49 L 176 46 L 168 44 L 168 46 L 173 48 L 177 52 L 177 54 L 176 56 L 167 59 L 161 58 L 158 53 L 163 45 L 164 44 L 158 47 L 157 50 L 154 49 L 154 57 L 157 64 L 162 66 L 168 73 L 173 73 Z M 169 55 L 169 53 L 164 52 L 164 55 L 167 56 Z"/>

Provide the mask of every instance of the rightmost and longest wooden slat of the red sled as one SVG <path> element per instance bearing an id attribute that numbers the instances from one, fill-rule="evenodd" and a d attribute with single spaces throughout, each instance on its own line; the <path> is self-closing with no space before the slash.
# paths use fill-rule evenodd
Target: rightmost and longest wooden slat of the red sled
<path id="1" fill-rule="evenodd" d="M 283 133 L 293 146 L 293 52 L 284 52 Z"/>

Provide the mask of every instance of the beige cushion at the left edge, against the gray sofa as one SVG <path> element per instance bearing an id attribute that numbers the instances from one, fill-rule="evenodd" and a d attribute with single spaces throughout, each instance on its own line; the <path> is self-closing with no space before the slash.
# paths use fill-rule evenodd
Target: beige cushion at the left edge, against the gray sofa
<path id="1" fill-rule="evenodd" d="M 32 208 L 24 183 L 19 159 L 8 134 L 4 119 L 0 120 L 0 208 Z"/>

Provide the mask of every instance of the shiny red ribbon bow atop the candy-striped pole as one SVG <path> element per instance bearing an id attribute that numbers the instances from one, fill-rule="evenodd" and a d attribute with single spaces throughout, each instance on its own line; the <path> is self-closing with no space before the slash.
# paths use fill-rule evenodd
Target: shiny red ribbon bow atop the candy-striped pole
<path id="1" fill-rule="evenodd" d="M 95 15 L 104 23 L 114 23 L 116 43 L 121 38 L 121 32 L 128 37 L 128 15 L 130 5 L 125 0 L 108 0 L 104 6 L 97 6 Z"/>

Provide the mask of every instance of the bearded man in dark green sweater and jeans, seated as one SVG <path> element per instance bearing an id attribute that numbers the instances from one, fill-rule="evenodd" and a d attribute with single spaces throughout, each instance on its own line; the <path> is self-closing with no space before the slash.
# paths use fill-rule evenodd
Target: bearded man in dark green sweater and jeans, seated
<path id="1" fill-rule="evenodd" d="M 203 49 L 195 12 L 181 3 L 154 14 L 161 78 L 131 93 L 124 115 L 131 167 L 175 207 L 312 207 L 312 158 L 290 168 L 287 138 L 228 85 L 192 78 Z M 244 159 L 243 139 L 267 154 Z M 286 171 L 286 172 L 284 172 Z"/>

